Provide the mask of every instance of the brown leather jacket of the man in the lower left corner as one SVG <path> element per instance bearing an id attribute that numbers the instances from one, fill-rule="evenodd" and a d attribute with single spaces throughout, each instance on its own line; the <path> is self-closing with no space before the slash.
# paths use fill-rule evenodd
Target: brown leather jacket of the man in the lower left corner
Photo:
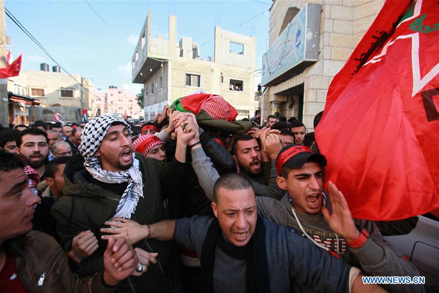
<path id="1" fill-rule="evenodd" d="M 45 233 L 30 231 L 6 241 L 5 246 L 15 259 L 21 283 L 29 292 L 113 292 L 101 283 L 101 272 L 85 278 L 70 272 L 67 255 Z"/>

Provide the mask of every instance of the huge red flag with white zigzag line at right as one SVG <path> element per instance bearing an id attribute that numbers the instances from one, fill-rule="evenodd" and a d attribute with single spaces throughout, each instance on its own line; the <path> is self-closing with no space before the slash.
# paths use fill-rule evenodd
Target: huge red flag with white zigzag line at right
<path id="1" fill-rule="evenodd" d="M 439 207 L 439 5 L 388 0 L 332 81 L 316 138 L 354 217 Z"/>

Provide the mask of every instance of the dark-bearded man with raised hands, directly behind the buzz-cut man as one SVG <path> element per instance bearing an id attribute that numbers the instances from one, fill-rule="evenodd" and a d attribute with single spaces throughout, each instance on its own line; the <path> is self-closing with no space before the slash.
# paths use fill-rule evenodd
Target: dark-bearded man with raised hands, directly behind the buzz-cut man
<path id="1" fill-rule="evenodd" d="M 262 136 L 264 139 L 262 139 Z M 261 142 L 265 141 L 265 137 L 269 139 L 269 143 L 264 146 L 274 149 L 270 151 L 273 157 L 266 156 L 266 158 L 264 158 L 264 162 L 271 161 L 270 180 L 268 184 L 265 184 L 262 176 L 262 151 L 254 137 L 241 135 L 235 138 L 232 145 L 232 157 L 237 162 L 240 173 L 251 181 L 253 188 L 255 188 L 256 195 L 281 199 L 283 192 L 276 183 L 276 156 L 282 146 L 277 134 L 263 134 L 261 135 Z M 265 149 L 264 151 L 266 152 L 267 150 Z"/>

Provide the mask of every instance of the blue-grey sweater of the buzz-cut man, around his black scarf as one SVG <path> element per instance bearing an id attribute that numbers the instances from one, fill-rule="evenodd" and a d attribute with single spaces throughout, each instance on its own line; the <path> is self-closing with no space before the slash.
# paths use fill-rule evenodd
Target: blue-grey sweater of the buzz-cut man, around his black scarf
<path id="1" fill-rule="evenodd" d="M 201 255 L 213 218 L 193 216 L 177 219 L 174 240 Z M 317 248 L 286 227 L 263 219 L 270 292 L 292 292 L 293 283 L 315 292 L 348 292 L 351 267 Z M 215 247 L 213 289 L 216 293 L 245 292 L 246 261 L 237 260 Z"/>

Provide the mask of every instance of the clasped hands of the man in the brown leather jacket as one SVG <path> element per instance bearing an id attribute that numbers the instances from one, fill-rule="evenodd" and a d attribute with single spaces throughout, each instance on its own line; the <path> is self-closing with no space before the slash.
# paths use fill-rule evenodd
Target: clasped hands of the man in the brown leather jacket
<path id="1" fill-rule="evenodd" d="M 106 284 L 116 286 L 121 280 L 131 275 L 139 263 L 137 253 L 133 247 L 125 243 L 123 237 L 115 240 L 108 238 L 107 249 L 103 255 L 103 278 Z"/>

